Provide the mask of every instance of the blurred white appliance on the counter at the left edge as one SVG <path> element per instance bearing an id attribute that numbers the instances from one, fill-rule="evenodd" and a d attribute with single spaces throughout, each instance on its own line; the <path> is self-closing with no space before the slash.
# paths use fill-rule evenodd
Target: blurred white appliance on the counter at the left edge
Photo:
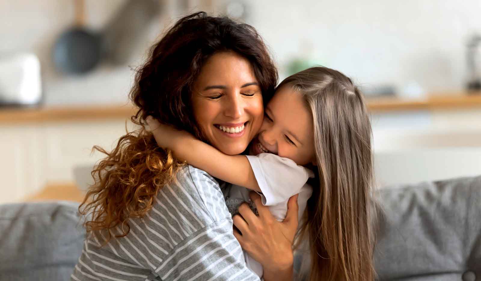
<path id="1" fill-rule="evenodd" d="M 0 105 L 35 105 L 41 98 L 37 56 L 31 53 L 0 56 Z"/>

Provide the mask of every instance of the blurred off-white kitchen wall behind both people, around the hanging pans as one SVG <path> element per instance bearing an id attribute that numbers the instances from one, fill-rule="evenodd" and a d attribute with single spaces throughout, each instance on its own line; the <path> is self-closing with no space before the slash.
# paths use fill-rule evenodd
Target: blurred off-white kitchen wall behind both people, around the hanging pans
<path id="1" fill-rule="evenodd" d="M 104 26 L 125 0 L 86 0 L 87 23 Z M 166 23 L 181 12 L 194 11 L 202 0 L 159 0 L 164 12 L 146 26 L 130 66 L 143 60 Z M 224 0 L 208 1 L 222 11 Z M 481 32 L 478 0 L 245 0 L 247 23 L 257 28 L 280 67 L 281 78 L 294 57 L 309 57 L 341 70 L 363 86 L 381 84 L 403 91 L 417 83 L 424 90 L 464 88 L 465 43 Z M 189 7 L 190 6 L 190 7 Z M 202 7 L 199 7 L 202 8 Z M 31 51 L 43 71 L 47 104 L 125 103 L 133 78 L 126 65 L 102 65 L 83 77 L 65 76 L 51 62 L 58 35 L 74 21 L 73 0 L 0 1 L 0 54 Z"/>

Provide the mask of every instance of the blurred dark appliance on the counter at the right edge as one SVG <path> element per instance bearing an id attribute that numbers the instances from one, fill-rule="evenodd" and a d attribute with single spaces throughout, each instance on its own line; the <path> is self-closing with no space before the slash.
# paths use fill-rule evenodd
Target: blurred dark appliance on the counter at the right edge
<path id="1" fill-rule="evenodd" d="M 481 90 L 481 35 L 472 35 L 468 40 L 468 90 Z"/>

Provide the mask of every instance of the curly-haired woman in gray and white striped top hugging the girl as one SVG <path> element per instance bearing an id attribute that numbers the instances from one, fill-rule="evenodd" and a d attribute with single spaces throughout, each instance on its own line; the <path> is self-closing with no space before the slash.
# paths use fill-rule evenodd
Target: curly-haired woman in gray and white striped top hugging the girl
<path id="1" fill-rule="evenodd" d="M 277 79 L 253 27 L 195 13 L 152 47 L 131 91 L 139 107 L 132 121 L 142 125 L 152 116 L 226 154 L 239 154 L 258 131 Z M 241 125 L 244 130 L 235 136 L 219 129 Z M 258 280 L 245 267 L 213 177 L 177 162 L 143 126 L 121 137 L 112 152 L 97 149 L 107 157 L 92 172 L 96 183 L 80 207 L 92 216 L 72 280 Z M 264 230 L 264 245 L 252 252 L 267 281 L 292 280 L 297 214 L 293 200 L 290 206 L 285 224 L 267 223 L 272 233 Z M 269 219 L 261 211 L 258 220 Z M 239 225 L 247 248 L 255 220 Z"/>

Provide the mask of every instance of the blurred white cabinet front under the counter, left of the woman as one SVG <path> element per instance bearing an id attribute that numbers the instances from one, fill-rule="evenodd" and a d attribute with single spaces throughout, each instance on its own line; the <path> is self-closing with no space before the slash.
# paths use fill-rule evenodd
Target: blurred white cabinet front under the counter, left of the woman
<path id="1" fill-rule="evenodd" d="M 74 181 L 76 166 L 93 166 L 126 133 L 126 118 L 0 124 L 0 203 L 18 201 L 48 183 Z M 127 121 L 127 129 L 135 127 Z"/>

